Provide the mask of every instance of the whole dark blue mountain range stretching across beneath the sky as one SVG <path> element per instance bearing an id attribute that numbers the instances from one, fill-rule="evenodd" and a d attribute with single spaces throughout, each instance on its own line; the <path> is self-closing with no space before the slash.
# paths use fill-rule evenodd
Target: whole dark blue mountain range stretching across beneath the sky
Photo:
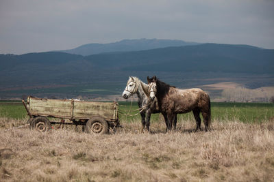
<path id="1" fill-rule="evenodd" d="M 163 42 L 173 46 L 145 50 L 148 47 L 163 46 Z M 131 46 L 128 49 L 122 48 L 122 44 Z M 80 52 L 71 54 L 58 51 L 0 55 L 0 94 L 9 95 L 12 93 L 10 90 L 24 87 L 35 87 L 38 92 L 43 93 L 45 91 L 39 89 L 43 85 L 68 86 L 71 87 L 70 93 L 74 89 L 76 95 L 85 89 L 105 89 L 106 85 L 112 85 L 112 89 L 119 92 L 125 86 L 128 76 L 146 78 L 153 74 L 172 83 L 175 83 L 178 75 L 188 80 L 188 83 L 180 81 L 179 87 L 194 87 L 209 77 L 225 75 L 233 78 L 237 74 L 271 76 L 270 80 L 266 78 L 264 82 L 253 82 L 252 87 L 273 85 L 274 50 L 231 44 L 175 44 L 184 42 L 123 40 L 113 44 L 101 44 L 101 50 L 96 44 L 94 52 L 97 54 L 86 56 L 83 51 L 88 49 L 85 48 L 92 48 L 95 44 L 73 50 L 82 51 L 82 55 L 79 55 Z M 132 48 L 140 50 L 128 51 Z M 113 52 L 114 50 L 117 51 Z M 90 54 L 88 52 L 86 54 Z M 196 82 L 193 82 L 195 79 Z"/>

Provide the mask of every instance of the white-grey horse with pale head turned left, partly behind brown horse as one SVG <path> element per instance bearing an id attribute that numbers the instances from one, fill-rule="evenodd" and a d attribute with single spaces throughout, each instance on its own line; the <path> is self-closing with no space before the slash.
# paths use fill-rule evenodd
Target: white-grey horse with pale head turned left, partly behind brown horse
<path id="1" fill-rule="evenodd" d="M 138 96 L 138 106 L 141 110 L 140 115 L 142 118 L 142 130 L 146 128 L 147 131 L 149 131 L 151 114 L 160 112 L 158 108 L 158 102 L 157 100 L 151 102 L 149 97 L 149 86 L 145 84 L 145 82 L 142 82 L 137 77 L 129 76 L 129 80 L 127 80 L 127 86 L 123 91 L 123 97 L 127 99 L 135 93 Z"/>

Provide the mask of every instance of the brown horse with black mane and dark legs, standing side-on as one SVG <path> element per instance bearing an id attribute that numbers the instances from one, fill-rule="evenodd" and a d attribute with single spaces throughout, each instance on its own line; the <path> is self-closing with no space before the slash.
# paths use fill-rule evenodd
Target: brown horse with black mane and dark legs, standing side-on
<path id="1" fill-rule="evenodd" d="M 176 129 L 176 114 L 190 112 L 192 110 L 196 120 L 196 130 L 201 130 L 200 112 L 203 116 L 205 130 L 210 130 L 210 97 L 201 89 L 177 89 L 153 76 L 149 78 L 149 91 L 151 100 L 158 99 L 160 112 L 168 119 L 167 130 Z"/>

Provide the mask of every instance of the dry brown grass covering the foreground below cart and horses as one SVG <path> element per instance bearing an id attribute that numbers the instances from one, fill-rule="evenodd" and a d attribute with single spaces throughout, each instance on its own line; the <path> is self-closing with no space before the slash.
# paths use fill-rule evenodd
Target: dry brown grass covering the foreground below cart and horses
<path id="1" fill-rule="evenodd" d="M 3 119 L 0 119 L 3 122 Z M 274 122 L 214 121 L 212 132 L 177 132 L 140 121 L 116 134 L 0 130 L 1 181 L 272 181 Z"/>

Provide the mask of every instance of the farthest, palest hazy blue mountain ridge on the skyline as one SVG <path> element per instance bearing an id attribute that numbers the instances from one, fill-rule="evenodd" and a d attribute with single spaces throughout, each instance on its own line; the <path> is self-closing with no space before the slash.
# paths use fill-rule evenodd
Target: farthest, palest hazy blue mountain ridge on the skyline
<path id="1" fill-rule="evenodd" d="M 154 48 L 165 48 L 170 46 L 189 46 L 197 45 L 196 42 L 184 42 L 182 40 L 158 40 L 158 39 L 138 39 L 121 40 L 109 44 L 85 44 L 70 50 L 60 50 L 75 55 L 96 55 L 104 52 L 125 52 L 134 50 L 148 50 Z"/>

